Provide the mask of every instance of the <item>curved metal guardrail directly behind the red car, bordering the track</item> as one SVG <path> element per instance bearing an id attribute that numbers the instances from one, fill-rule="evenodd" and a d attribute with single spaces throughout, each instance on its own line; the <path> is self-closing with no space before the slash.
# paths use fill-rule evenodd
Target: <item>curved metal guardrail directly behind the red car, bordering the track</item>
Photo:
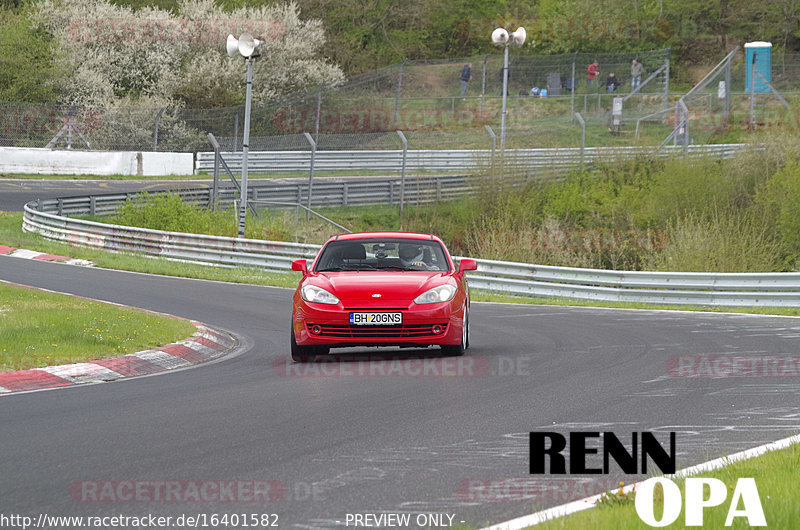
<path id="1" fill-rule="evenodd" d="M 62 208 L 66 200 L 58 199 Z M 26 204 L 23 229 L 110 251 L 280 271 L 289 270 L 294 259 L 313 258 L 320 248 L 108 225 L 57 215 L 55 208 L 52 201 Z M 609 271 L 477 261 L 478 270 L 470 274 L 473 288 L 512 295 L 674 305 L 800 306 L 800 273 Z"/>

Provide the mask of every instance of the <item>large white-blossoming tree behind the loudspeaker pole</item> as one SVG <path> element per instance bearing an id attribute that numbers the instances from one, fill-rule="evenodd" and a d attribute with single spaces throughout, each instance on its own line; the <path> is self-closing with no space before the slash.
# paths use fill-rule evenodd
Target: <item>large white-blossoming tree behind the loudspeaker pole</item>
<path id="1" fill-rule="evenodd" d="M 265 41 L 255 63 L 256 103 L 343 79 L 337 66 L 318 58 L 325 44 L 321 22 L 301 20 L 293 3 L 225 12 L 213 0 L 182 0 L 173 14 L 148 6 L 134 11 L 108 0 L 42 0 L 36 20 L 53 36 L 57 63 L 69 72 L 58 89 L 70 104 L 237 103 L 244 64 L 225 55 L 224 42 L 228 33 L 243 31 Z"/>

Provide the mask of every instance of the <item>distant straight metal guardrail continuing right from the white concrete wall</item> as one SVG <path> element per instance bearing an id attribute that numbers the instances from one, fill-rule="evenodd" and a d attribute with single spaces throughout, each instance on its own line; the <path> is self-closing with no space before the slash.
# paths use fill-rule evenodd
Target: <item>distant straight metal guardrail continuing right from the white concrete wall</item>
<path id="1" fill-rule="evenodd" d="M 745 149 L 744 144 L 690 145 L 686 154 L 728 158 Z M 583 154 L 583 160 L 581 159 Z M 586 147 L 564 149 L 506 149 L 504 166 L 549 172 L 592 164 L 614 157 L 635 157 L 651 154 L 668 157 L 683 155 L 681 146 L 666 146 L 661 150 L 648 147 Z M 221 153 L 231 171 L 241 171 L 242 153 Z M 493 160 L 491 149 L 409 150 L 406 169 L 410 173 L 464 173 L 489 167 Z M 398 172 L 403 162 L 402 150 L 380 151 L 316 151 L 315 171 Z M 311 151 L 250 151 L 248 169 L 252 173 L 286 173 L 307 171 Z M 214 171 L 214 152 L 199 152 L 195 172 Z"/>

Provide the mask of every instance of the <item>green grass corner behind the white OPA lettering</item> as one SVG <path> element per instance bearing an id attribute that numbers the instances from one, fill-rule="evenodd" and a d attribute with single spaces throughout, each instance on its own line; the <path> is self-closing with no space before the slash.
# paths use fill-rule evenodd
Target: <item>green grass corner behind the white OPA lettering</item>
<path id="1" fill-rule="evenodd" d="M 754 478 L 761 498 L 761 506 L 769 528 L 800 527 L 800 503 L 797 502 L 797 470 L 800 469 L 800 445 L 772 451 L 762 456 L 730 464 L 719 470 L 700 473 L 697 477 L 710 477 L 722 480 L 728 486 L 728 498 L 721 506 L 706 508 L 703 514 L 703 528 L 725 528 L 725 518 L 733 488 L 738 478 Z M 683 495 L 684 482 L 677 481 Z M 658 491 L 658 490 L 656 490 Z M 706 495 L 708 493 L 706 492 Z M 658 497 L 656 494 L 655 497 Z M 571 528 L 598 528 L 628 530 L 649 528 L 634 508 L 634 495 L 628 495 L 620 502 L 604 502 L 597 508 L 553 519 L 531 528 L 552 530 Z M 741 509 L 741 503 L 739 505 Z M 663 501 L 656 498 L 655 514 L 660 517 Z M 749 528 L 746 519 L 737 517 L 730 528 Z M 665 528 L 684 528 L 684 511 L 672 525 Z"/>

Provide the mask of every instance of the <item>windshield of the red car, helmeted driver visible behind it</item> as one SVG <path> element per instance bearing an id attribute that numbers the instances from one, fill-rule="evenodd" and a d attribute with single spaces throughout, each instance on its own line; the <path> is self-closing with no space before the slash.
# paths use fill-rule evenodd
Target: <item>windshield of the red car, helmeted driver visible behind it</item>
<path id="1" fill-rule="evenodd" d="M 322 249 L 314 270 L 449 271 L 450 265 L 438 241 L 370 238 L 331 241 Z"/>

